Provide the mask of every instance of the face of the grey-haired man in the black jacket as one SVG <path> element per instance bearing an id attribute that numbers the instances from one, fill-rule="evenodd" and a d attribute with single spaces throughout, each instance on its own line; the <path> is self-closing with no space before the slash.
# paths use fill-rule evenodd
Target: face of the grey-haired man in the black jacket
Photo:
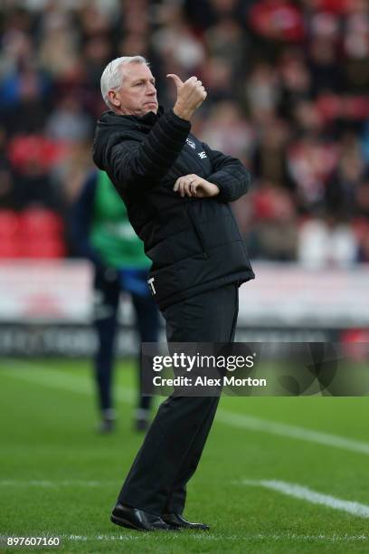
<path id="1" fill-rule="evenodd" d="M 122 85 L 109 91 L 109 100 L 116 113 L 142 117 L 149 111 L 157 112 L 155 79 L 144 63 L 128 63 L 123 66 Z"/>

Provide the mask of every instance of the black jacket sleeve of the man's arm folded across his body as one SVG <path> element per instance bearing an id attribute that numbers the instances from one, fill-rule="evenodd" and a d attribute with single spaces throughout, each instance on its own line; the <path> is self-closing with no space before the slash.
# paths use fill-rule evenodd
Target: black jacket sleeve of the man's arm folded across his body
<path id="1" fill-rule="evenodd" d="M 220 190 L 215 198 L 219 202 L 233 202 L 245 195 L 251 185 L 251 173 L 248 169 L 239 159 L 213 150 L 204 142 L 202 144 L 213 168 L 212 175 L 206 177 L 206 180 Z"/>

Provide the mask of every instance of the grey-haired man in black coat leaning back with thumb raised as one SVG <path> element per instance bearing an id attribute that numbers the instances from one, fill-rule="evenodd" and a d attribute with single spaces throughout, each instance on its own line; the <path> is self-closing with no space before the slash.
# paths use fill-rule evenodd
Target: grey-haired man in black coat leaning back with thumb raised
<path id="1" fill-rule="evenodd" d="M 109 111 L 93 159 L 109 174 L 152 260 L 148 285 L 168 342 L 232 342 L 238 288 L 254 278 L 229 202 L 251 176 L 241 162 L 191 134 L 206 98 L 196 77 L 176 75 L 177 100 L 163 110 L 141 56 L 110 62 L 101 77 Z M 208 529 L 186 521 L 185 485 L 199 463 L 219 396 L 169 396 L 159 407 L 118 496 L 111 521 L 137 530 Z"/>

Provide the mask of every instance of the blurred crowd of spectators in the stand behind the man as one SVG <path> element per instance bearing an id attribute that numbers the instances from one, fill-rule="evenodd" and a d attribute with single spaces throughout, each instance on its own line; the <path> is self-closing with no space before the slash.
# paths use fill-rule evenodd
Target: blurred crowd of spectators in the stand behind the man
<path id="1" fill-rule="evenodd" d="M 251 169 L 234 211 L 254 259 L 369 263 L 367 0 L 2 0 L 0 28 L 0 239 L 43 211 L 63 246 L 41 255 L 74 254 L 101 72 L 142 54 L 166 107 L 167 72 L 205 84 L 194 134 Z"/>

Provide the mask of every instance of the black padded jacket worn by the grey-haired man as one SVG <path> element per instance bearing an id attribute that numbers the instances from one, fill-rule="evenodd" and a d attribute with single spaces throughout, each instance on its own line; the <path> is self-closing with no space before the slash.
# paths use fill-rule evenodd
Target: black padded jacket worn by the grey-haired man
<path id="1" fill-rule="evenodd" d="M 109 174 L 129 221 L 152 261 L 148 283 L 160 310 L 195 294 L 254 278 L 229 202 L 251 181 L 241 162 L 209 148 L 173 110 L 98 121 L 93 159 Z M 182 198 L 175 180 L 188 174 L 217 185 L 212 198 Z"/>

